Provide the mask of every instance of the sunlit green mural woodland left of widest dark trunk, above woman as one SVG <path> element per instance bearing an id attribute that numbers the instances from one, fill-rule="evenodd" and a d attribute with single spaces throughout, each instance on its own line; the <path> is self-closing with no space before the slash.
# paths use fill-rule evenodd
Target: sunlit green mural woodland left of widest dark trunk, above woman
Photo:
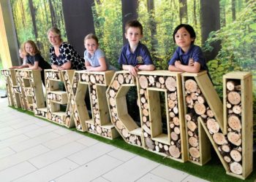
<path id="1" fill-rule="evenodd" d="M 35 41 L 43 58 L 50 61 L 48 29 L 53 25 L 57 26 L 66 39 L 61 1 L 11 0 L 11 7 L 18 43 L 22 44 L 29 39 Z"/>

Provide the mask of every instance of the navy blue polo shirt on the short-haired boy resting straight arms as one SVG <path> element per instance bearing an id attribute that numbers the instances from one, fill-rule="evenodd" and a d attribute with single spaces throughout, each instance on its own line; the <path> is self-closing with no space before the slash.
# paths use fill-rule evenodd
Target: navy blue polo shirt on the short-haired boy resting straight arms
<path id="1" fill-rule="evenodd" d="M 118 59 L 119 65 L 152 65 L 153 61 L 146 45 L 139 41 L 138 47 L 132 53 L 129 49 L 129 43 L 121 49 L 121 55 Z"/>

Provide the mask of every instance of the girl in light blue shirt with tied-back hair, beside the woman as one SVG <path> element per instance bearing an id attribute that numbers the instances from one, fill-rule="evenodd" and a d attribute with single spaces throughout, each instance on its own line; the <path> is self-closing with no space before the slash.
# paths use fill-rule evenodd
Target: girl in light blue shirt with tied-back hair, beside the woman
<path id="1" fill-rule="evenodd" d="M 88 34 L 84 38 L 84 46 L 86 51 L 84 52 L 84 59 L 86 60 L 86 70 L 89 71 L 106 71 L 116 70 L 113 66 L 110 66 L 108 60 L 105 58 L 105 54 L 99 49 L 99 40 L 93 33 Z"/>

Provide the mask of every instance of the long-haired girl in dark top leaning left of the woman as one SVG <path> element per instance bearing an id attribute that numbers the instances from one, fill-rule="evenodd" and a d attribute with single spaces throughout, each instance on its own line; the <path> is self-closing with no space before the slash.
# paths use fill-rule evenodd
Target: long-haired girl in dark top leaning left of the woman
<path id="1" fill-rule="evenodd" d="M 32 70 L 40 70 L 42 83 L 45 85 L 45 69 L 50 69 L 51 66 L 49 63 L 45 61 L 44 58 L 40 55 L 39 50 L 37 49 L 37 45 L 34 41 L 26 41 L 24 44 L 24 50 L 26 50 L 26 59 L 27 63 L 24 66 L 20 66 L 21 68 L 27 68 Z"/>

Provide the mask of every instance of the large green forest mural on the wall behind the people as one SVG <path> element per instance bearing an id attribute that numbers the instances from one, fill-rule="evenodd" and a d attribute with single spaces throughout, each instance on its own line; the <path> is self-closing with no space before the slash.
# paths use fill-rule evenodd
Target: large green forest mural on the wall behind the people
<path id="1" fill-rule="evenodd" d="M 86 0 L 84 0 L 86 1 Z M 252 71 L 256 84 L 256 1 L 255 0 L 95 0 L 89 1 L 99 46 L 110 63 L 117 60 L 124 39 L 124 24 L 137 18 L 143 24 L 143 43 L 151 51 L 157 69 L 167 69 L 176 45 L 172 34 L 180 23 L 195 28 L 195 44 L 203 48 L 208 68 L 222 98 L 222 75 L 230 71 Z M 11 0 L 12 12 L 21 44 L 37 42 L 49 60 L 47 31 L 53 25 L 67 40 L 62 7 L 67 1 Z M 211 12 L 211 13 L 209 13 Z M 82 23 L 82 22 L 79 22 Z M 78 23 L 78 24 L 79 24 Z M 74 32 L 75 33 L 75 32 Z M 81 39 L 80 41 L 83 41 Z M 79 43 L 80 44 L 80 43 Z M 75 46 L 75 45 L 74 45 Z M 254 95 L 256 89 L 254 88 Z M 254 113 L 256 114 L 254 97 Z M 256 116 L 254 116 L 256 133 Z M 256 141 L 256 135 L 255 135 Z"/>

